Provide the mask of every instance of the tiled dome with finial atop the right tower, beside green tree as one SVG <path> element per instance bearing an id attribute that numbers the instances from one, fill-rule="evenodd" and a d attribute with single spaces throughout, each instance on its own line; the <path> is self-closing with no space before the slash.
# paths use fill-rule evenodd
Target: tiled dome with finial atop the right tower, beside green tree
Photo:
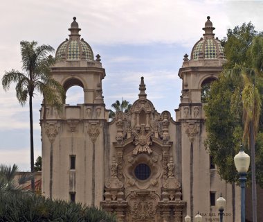
<path id="1" fill-rule="evenodd" d="M 221 46 L 221 42 L 216 38 L 212 31 L 215 29 L 212 27 L 212 22 L 210 22 L 210 17 L 207 17 L 208 21 L 205 24 L 203 30 L 205 33 L 203 37 L 194 44 L 191 53 L 191 60 L 198 59 L 225 59 L 224 48 Z"/>

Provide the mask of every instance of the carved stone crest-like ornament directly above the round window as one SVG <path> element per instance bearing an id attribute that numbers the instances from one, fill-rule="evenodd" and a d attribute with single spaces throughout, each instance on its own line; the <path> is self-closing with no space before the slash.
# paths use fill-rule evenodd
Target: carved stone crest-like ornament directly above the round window
<path id="1" fill-rule="evenodd" d="M 145 126 L 142 124 L 140 126 L 140 130 L 134 130 L 134 144 L 136 147 L 134 148 L 134 151 L 132 152 L 134 155 L 137 155 L 138 153 L 152 153 L 152 149 L 149 148 L 150 145 L 152 145 L 151 137 L 152 134 L 151 131 L 148 133 L 145 133 Z"/>

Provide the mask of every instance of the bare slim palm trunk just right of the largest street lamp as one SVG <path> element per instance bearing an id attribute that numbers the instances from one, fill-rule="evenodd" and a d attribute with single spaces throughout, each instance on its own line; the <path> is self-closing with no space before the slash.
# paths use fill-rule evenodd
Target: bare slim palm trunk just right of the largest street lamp
<path id="1" fill-rule="evenodd" d="M 255 182 L 255 137 L 254 137 L 254 123 L 253 120 L 249 126 L 249 146 L 251 148 L 251 173 L 252 173 L 252 211 L 253 211 L 253 222 L 257 222 L 257 185 Z"/>

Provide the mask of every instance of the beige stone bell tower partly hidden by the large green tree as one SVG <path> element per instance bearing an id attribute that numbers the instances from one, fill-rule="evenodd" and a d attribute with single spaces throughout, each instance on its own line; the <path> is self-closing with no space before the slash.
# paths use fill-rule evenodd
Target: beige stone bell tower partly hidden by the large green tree
<path id="1" fill-rule="evenodd" d="M 188 203 L 188 215 L 193 217 L 201 212 L 203 221 L 216 220 L 215 200 L 222 193 L 228 202 L 226 221 L 239 221 L 238 215 L 235 215 L 235 203 L 239 201 L 239 197 L 235 200 L 233 189 L 236 188 L 220 180 L 216 166 L 211 162 L 212 157 L 204 146 L 206 114 L 203 107 L 210 83 L 219 77 L 226 62 L 224 48 L 215 38 L 214 30 L 208 16 L 203 37 L 194 44 L 190 59 L 185 54 L 179 69 L 178 75 L 182 79 L 181 103 L 176 109 L 176 122 L 181 124 L 182 167 L 179 174 L 183 198 Z"/>

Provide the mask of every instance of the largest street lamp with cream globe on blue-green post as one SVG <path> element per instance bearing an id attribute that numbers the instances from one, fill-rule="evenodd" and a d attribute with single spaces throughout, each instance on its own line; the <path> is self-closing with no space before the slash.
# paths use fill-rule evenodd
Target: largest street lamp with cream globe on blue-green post
<path id="1" fill-rule="evenodd" d="M 247 155 L 243 146 L 240 146 L 240 151 L 234 157 L 235 167 L 239 173 L 239 181 L 241 187 L 241 222 L 245 222 L 245 187 L 246 187 L 246 173 L 249 168 L 251 157 Z"/>

